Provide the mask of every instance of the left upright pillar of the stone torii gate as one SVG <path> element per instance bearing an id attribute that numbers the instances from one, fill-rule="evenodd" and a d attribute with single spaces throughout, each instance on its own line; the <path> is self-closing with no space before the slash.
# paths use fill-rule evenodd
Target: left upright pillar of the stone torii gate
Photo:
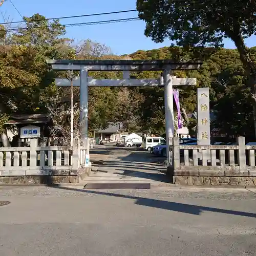
<path id="1" fill-rule="evenodd" d="M 80 123 L 81 140 L 86 147 L 86 155 L 89 155 L 88 141 L 88 71 L 84 66 L 80 69 Z"/>

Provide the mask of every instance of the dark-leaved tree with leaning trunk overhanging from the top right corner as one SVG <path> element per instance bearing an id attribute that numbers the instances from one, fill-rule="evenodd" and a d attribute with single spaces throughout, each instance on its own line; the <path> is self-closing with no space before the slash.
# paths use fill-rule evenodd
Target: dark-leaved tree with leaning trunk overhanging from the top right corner
<path id="1" fill-rule="evenodd" d="M 220 47 L 223 38 L 234 42 L 248 77 L 256 136 L 256 63 L 244 41 L 256 34 L 255 1 L 137 0 L 137 9 L 145 35 L 156 42 L 167 37 L 188 48 Z"/>

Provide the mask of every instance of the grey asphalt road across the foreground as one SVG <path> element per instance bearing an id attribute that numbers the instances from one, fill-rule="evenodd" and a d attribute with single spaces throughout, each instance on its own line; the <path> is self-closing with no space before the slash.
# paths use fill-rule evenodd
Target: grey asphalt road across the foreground
<path id="1" fill-rule="evenodd" d="M 255 190 L 0 187 L 1 200 L 1 256 L 255 256 Z"/>

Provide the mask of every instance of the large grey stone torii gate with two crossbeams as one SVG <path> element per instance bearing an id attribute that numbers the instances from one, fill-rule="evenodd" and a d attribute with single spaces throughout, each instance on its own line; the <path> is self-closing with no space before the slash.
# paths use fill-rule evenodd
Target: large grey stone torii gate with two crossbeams
<path id="1" fill-rule="evenodd" d="M 176 78 L 173 70 L 199 69 L 201 62 L 174 62 L 172 60 L 47 60 L 54 70 L 79 70 L 80 77 L 73 79 L 73 86 L 80 86 L 81 139 L 89 155 L 88 141 L 88 87 L 89 86 L 164 86 L 166 145 L 174 137 L 173 86 L 195 85 L 196 78 Z M 123 71 L 123 79 L 93 79 L 88 71 Z M 163 71 L 159 79 L 130 79 L 130 71 Z M 57 86 L 70 86 L 68 79 L 56 79 Z M 167 161 L 171 158 L 167 150 Z"/>

